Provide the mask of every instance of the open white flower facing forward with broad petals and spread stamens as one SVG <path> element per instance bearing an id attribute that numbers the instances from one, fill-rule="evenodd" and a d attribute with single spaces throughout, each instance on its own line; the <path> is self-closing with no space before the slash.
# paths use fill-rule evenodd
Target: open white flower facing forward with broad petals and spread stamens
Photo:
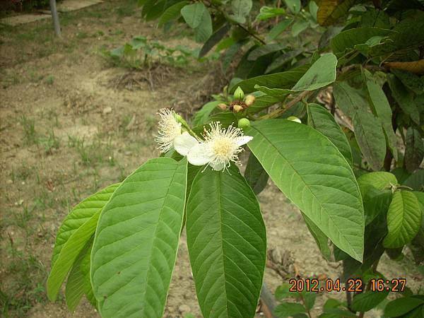
<path id="1" fill-rule="evenodd" d="M 187 160 L 192 165 L 210 165 L 213 170 L 225 170 L 230 162 L 240 164 L 238 154 L 243 151 L 242 146 L 253 139 L 251 136 L 243 136 L 240 128 L 229 126 L 221 128 L 219 122 L 210 124 L 211 129 L 205 132 L 205 141 L 197 142 L 194 137 L 187 152 Z"/>

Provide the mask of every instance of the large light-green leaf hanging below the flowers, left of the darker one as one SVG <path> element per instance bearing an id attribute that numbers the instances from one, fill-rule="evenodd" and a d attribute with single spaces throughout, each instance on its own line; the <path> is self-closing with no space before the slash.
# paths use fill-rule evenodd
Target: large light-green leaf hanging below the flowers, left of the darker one
<path id="1" fill-rule="evenodd" d="M 184 214 L 187 160 L 148 160 L 103 208 L 91 254 L 102 317 L 162 317 Z"/>

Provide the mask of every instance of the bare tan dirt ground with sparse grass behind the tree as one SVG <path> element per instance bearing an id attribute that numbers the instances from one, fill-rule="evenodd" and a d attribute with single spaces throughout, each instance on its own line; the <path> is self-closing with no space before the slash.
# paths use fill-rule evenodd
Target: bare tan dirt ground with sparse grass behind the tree
<path id="1" fill-rule="evenodd" d="M 134 1 L 105 1 L 61 16 L 63 40 L 50 21 L 16 28 L 0 27 L 0 305 L 4 317 L 98 317 L 86 300 L 75 313 L 64 298 L 51 303 L 45 295 L 54 237 L 61 220 L 78 201 L 119 182 L 149 158 L 155 148 L 155 112 L 174 107 L 189 116 L 225 77 L 215 61 L 193 61 L 184 68 L 163 67 L 118 86 L 127 69 L 102 57 L 102 48 L 122 45 L 136 35 L 173 47 L 189 31 L 164 35 L 154 22 L 140 20 Z M 172 40 L 170 40 L 172 38 Z M 269 249 L 285 259 L 287 276 L 267 268 L 273 291 L 295 272 L 303 277 L 336 278 L 341 264 L 325 261 L 299 211 L 278 189 L 259 195 Z M 411 257 L 383 257 L 379 271 L 406 277 L 420 288 L 423 276 Z M 423 287 L 421 287 L 423 288 Z M 314 317 L 328 295 L 319 295 Z M 333 298 L 343 299 L 342 293 Z M 201 317 L 196 303 L 183 234 L 167 299 L 165 317 Z M 379 317 L 378 312 L 365 317 Z"/>

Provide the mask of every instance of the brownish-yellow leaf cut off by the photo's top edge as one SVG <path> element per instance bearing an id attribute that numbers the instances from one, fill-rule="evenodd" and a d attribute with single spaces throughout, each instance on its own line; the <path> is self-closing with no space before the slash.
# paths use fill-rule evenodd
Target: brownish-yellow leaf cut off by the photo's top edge
<path id="1" fill-rule="evenodd" d="M 331 25 L 338 18 L 344 16 L 355 0 L 322 0 L 319 2 L 317 11 L 317 21 L 319 25 Z"/>

